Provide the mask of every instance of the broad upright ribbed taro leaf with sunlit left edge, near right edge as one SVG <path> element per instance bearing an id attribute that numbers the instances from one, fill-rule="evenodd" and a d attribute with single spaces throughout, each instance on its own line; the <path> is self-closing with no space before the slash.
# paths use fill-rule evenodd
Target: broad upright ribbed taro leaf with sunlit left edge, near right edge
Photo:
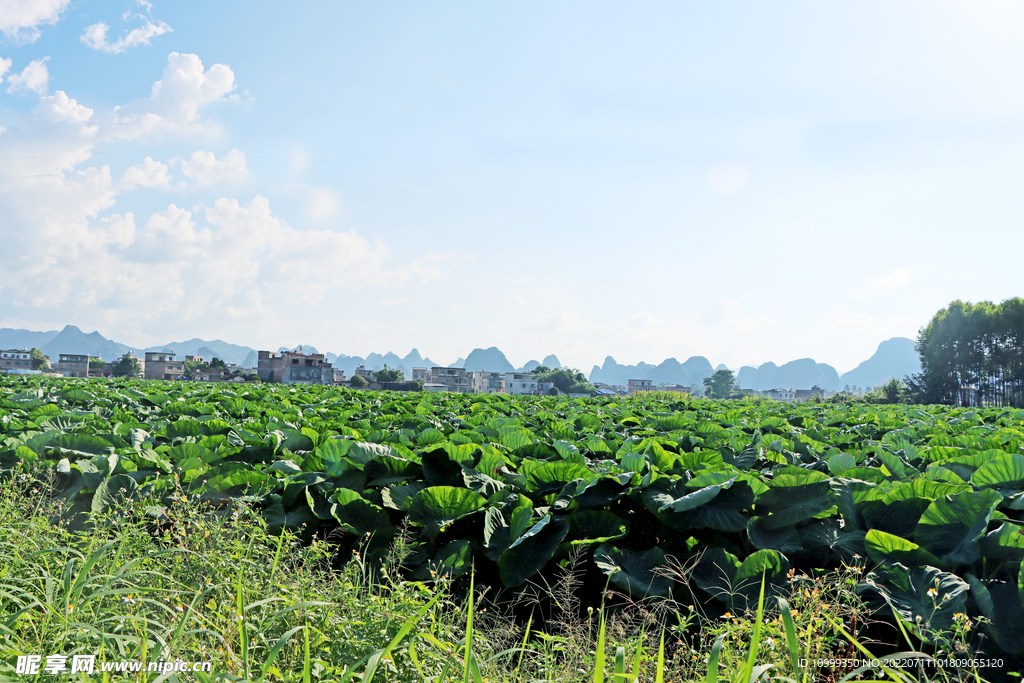
<path id="1" fill-rule="evenodd" d="M 979 490 L 932 501 L 913 540 L 950 566 L 971 564 L 979 557 L 978 539 L 1001 500 L 994 490 Z"/>

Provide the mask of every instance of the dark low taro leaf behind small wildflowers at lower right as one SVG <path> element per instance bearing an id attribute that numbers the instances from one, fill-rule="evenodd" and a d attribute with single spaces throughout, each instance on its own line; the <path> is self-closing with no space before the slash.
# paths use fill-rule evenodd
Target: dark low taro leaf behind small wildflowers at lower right
<path id="1" fill-rule="evenodd" d="M 899 562 L 881 564 L 857 587 L 859 594 L 881 597 L 925 639 L 930 631 L 949 629 L 953 614 L 965 611 L 968 590 L 956 574 L 929 565 L 907 568 Z"/>

